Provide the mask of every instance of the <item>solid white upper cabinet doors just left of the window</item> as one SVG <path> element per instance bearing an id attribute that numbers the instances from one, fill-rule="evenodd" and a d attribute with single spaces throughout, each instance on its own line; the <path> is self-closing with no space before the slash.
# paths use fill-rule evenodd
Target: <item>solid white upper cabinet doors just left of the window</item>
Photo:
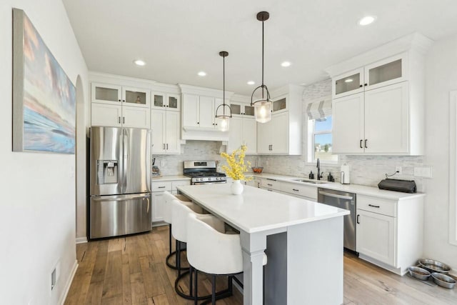
<path id="1" fill-rule="evenodd" d="M 288 154 L 288 111 L 273 114 L 271 121 L 257 124 L 258 154 Z"/>

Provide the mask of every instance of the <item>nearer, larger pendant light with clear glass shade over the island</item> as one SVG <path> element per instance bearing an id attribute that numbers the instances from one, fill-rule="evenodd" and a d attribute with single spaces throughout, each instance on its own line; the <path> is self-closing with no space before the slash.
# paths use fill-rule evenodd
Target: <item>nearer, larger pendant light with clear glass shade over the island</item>
<path id="1" fill-rule="evenodd" d="M 262 21 L 262 84 L 252 92 L 251 106 L 254 106 L 254 115 L 259 123 L 266 123 L 271 120 L 270 92 L 268 92 L 266 85 L 263 84 L 263 21 L 268 20 L 268 18 L 270 18 L 268 11 L 261 11 L 257 14 L 257 20 Z M 253 96 L 257 89 L 262 89 L 262 98 L 258 101 L 253 101 Z M 266 91 L 266 98 L 263 95 L 263 91 Z"/>

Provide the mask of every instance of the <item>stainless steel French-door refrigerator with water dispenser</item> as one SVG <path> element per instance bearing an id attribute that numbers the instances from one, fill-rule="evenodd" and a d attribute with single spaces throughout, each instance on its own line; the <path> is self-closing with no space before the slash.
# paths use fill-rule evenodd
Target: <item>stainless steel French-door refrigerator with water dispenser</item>
<path id="1" fill-rule="evenodd" d="M 151 230 L 150 133 L 91 127 L 90 239 Z"/>

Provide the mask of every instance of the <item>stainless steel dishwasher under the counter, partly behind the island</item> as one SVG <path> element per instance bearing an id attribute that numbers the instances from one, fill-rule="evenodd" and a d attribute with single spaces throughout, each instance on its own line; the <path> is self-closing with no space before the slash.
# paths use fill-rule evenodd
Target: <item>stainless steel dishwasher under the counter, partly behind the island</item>
<path id="1" fill-rule="evenodd" d="M 344 216 L 344 247 L 356 251 L 356 194 L 318 188 L 317 201 L 351 211 Z"/>

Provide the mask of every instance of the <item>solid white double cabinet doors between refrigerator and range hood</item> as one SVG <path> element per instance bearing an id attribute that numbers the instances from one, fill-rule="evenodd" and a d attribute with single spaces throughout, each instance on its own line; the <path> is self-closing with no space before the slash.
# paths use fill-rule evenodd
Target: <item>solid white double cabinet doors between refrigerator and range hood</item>
<path id="1" fill-rule="evenodd" d="M 180 154 L 180 113 L 178 111 L 151 110 L 152 154 Z"/>

